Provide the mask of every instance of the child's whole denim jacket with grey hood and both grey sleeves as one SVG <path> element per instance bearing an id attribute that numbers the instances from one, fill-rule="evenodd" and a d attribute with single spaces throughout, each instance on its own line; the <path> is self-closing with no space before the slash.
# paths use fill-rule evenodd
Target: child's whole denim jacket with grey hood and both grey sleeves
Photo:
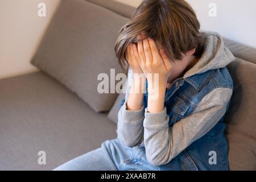
<path id="1" fill-rule="evenodd" d="M 229 169 L 223 118 L 233 91 L 226 65 L 234 56 L 220 35 L 202 35 L 201 59 L 166 90 L 162 112 L 148 113 L 146 92 L 141 110 L 126 110 L 124 100 L 118 113 L 120 142 L 125 146 L 141 143 L 148 162 L 163 170 Z"/>

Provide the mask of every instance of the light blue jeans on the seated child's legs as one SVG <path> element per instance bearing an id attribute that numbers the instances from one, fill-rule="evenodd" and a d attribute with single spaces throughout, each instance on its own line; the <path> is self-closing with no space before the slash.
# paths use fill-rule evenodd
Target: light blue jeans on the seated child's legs
<path id="1" fill-rule="evenodd" d="M 147 162 L 144 142 L 135 147 L 125 147 L 119 140 L 106 140 L 100 148 L 81 155 L 54 170 L 60 171 L 127 171 L 168 170 L 167 166 L 152 166 Z"/>

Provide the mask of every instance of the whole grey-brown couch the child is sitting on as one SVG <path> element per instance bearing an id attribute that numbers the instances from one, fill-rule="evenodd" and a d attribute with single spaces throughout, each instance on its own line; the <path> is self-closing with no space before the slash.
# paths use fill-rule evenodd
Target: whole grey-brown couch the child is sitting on
<path id="1" fill-rule="evenodd" d="M 97 75 L 122 72 L 114 42 L 134 10 L 114 1 L 61 1 L 31 61 L 40 72 L 0 80 L 0 170 L 51 170 L 117 137 L 123 94 L 97 93 Z M 235 85 L 225 117 L 230 169 L 255 170 L 256 49 L 225 44 L 237 57 L 228 66 Z M 46 165 L 38 164 L 39 151 Z"/>

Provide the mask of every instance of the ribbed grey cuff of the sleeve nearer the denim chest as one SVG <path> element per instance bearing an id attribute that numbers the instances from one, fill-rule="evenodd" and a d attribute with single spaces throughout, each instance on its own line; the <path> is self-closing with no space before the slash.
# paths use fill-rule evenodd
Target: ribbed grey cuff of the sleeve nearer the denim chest
<path id="1" fill-rule="evenodd" d="M 147 108 L 145 109 L 145 118 L 144 118 L 144 126 L 151 126 L 151 125 L 160 125 L 166 121 L 167 113 L 166 107 L 164 107 L 163 111 L 158 113 L 148 113 Z"/>

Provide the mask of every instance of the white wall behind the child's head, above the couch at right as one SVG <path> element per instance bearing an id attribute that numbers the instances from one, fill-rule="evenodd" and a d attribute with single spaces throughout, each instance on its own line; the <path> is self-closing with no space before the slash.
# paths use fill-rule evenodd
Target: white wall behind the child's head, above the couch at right
<path id="1" fill-rule="evenodd" d="M 141 0 L 115 0 L 134 7 Z M 216 31 L 225 38 L 256 48 L 255 0 L 187 0 L 195 9 L 202 30 Z M 209 4 L 216 3 L 217 16 L 210 17 Z"/>

